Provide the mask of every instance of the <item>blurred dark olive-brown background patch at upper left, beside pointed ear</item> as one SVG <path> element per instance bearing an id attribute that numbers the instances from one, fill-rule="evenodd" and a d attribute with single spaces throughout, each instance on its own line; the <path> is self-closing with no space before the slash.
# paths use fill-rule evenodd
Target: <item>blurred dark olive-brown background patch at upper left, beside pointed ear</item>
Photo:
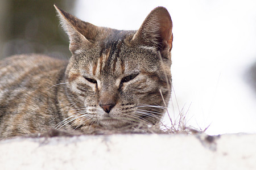
<path id="1" fill-rule="evenodd" d="M 60 27 L 53 4 L 72 13 L 75 1 L 7 0 L 1 58 L 24 53 L 71 56 L 68 37 Z"/>

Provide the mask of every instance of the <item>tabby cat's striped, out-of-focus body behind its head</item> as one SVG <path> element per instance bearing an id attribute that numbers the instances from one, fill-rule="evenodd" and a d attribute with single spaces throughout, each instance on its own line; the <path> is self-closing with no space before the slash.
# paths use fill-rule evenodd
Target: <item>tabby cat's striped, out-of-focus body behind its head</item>
<path id="1" fill-rule="evenodd" d="M 0 138 L 46 131 L 60 121 L 55 87 L 67 63 L 36 54 L 0 61 Z"/>

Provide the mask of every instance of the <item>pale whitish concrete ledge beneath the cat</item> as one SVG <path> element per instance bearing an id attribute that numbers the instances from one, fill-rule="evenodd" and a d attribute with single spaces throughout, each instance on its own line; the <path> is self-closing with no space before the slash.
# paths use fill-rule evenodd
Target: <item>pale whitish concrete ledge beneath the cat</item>
<path id="1" fill-rule="evenodd" d="M 0 141 L 0 169 L 256 169 L 256 134 L 96 135 Z"/>

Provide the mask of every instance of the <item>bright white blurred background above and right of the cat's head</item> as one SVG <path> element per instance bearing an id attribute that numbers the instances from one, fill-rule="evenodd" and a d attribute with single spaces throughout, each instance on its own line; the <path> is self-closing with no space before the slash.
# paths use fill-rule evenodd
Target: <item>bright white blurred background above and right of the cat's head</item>
<path id="1" fill-rule="evenodd" d="M 256 95 L 246 82 L 256 62 L 256 1 L 79 0 L 75 15 L 98 26 L 138 29 L 157 6 L 167 8 L 174 25 L 171 116 L 184 108 L 187 125 L 210 125 L 208 134 L 256 132 Z"/>

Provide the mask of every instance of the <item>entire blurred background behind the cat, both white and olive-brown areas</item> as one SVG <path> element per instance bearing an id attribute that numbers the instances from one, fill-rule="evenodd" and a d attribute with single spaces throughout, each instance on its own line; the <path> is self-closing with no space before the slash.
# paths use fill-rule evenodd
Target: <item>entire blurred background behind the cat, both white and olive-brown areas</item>
<path id="1" fill-rule="evenodd" d="M 138 29 L 157 6 L 174 25 L 169 114 L 208 134 L 256 132 L 256 2 L 253 0 L 0 1 L 0 54 L 69 58 L 53 4 L 95 25 Z M 168 116 L 164 118 L 170 124 Z"/>

